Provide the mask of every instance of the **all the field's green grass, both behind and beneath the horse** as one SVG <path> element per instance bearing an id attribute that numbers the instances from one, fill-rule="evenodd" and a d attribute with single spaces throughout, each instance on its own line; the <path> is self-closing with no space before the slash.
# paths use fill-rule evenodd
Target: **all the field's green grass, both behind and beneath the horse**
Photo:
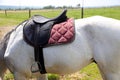
<path id="1" fill-rule="evenodd" d="M 32 15 L 40 14 L 48 18 L 57 16 L 62 10 L 61 9 L 51 9 L 51 10 L 32 10 Z M 79 19 L 80 9 L 68 9 L 68 17 L 74 17 Z M 101 15 L 111 18 L 120 19 L 120 7 L 111 7 L 111 8 L 87 8 L 84 10 L 84 17 Z M 4 11 L 0 11 L 0 27 L 12 27 L 18 25 L 20 22 L 28 19 L 28 11 L 7 11 L 7 16 Z M 85 67 L 81 71 L 65 76 L 58 76 L 49 74 L 49 80 L 102 80 L 99 70 L 96 64 L 92 63 L 89 66 Z M 13 76 L 10 73 L 7 73 L 5 80 L 12 80 Z"/>

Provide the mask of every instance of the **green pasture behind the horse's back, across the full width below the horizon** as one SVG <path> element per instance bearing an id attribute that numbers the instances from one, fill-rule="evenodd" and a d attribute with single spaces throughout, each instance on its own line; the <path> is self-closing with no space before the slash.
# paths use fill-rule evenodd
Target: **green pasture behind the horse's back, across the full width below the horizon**
<path id="1" fill-rule="evenodd" d="M 61 9 L 51 9 L 51 10 L 32 10 L 31 15 L 43 15 L 48 18 L 53 18 L 57 16 L 62 10 Z M 5 16 L 4 11 L 0 11 L 0 26 L 14 26 L 20 22 L 28 19 L 29 11 L 7 11 L 7 16 Z M 101 15 L 111 18 L 120 19 L 120 7 L 111 8 L 87 8 L 84 9 L 84 17 L 90 17 L 94 15 Z M 73 17 L 79 19 L 81 17 L 80 9 L 68 9 L 68 17 Z"/>

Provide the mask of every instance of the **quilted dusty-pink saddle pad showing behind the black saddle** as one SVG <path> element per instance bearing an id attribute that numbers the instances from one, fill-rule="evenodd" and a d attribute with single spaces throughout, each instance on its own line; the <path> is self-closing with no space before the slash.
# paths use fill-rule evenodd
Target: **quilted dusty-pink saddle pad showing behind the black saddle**
<path id="1" fill-rule="evenodd" d="M 62 44 L 74 40 L 75 28 L 74 19 L 70 18 L 65 22 L 55 24 L 50 33 L 48 44 Z"/>

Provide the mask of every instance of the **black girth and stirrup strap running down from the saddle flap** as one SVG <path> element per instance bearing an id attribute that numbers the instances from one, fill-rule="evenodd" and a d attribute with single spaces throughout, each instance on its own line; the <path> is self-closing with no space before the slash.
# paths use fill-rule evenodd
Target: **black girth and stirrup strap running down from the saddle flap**
<path id="1" fill-rule="evenodd" d="M 37 28 L 35 28 L 35 35 L 34 35 L 34 56 L 35 56 L 35 61 L 37 62 L 38 64 L 38 67 L 39 67 L 39 71 L 41 74 L 45 74 L 47 73 L 46 70 L 45 70 L 45 64 L 44 64 L 44 56 L 43 56 L 43 47 L 42 46 L 38 46 L 37 45 L 37 36 L 40 36 L 38 35 L 39 31 L 40 31 L 40 28 L 39 28 L 39 24 L 36 25 Z"/>

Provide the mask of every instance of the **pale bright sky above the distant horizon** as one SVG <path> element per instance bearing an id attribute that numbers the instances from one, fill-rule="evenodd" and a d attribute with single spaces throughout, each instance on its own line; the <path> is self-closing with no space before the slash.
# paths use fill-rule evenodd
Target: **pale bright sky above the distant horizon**
<path id="1" fill-rule="evenodd" d="M 84 5 L 84 7 L 120 6 L 120 0 L 0 0 L 0 5 L 11 6 L 44 7 L 48 5 L 77 6 L 77 4 Z"/>

